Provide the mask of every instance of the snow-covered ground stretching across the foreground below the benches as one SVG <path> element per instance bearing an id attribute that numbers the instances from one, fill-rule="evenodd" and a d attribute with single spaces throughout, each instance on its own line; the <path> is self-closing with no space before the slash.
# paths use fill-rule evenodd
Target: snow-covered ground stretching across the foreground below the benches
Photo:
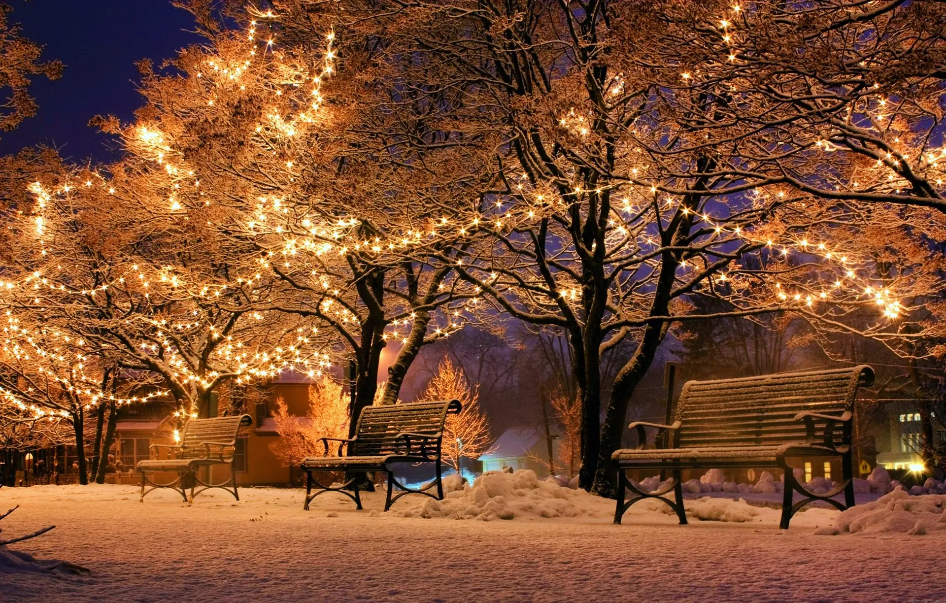
<path id="1" fill-rule="evenodd" d="M 779 529 L 779 510 L 722 497 L 687 501 L 691 525 L 643 501 L 613 525 L 613 501 L 487 474 L 443 502 L 403 498 L 382 513 L 339 494 L 171 491 L 131 486 L 0 489 L 10 548 L 91 575 L 4 574 L 0 601 L 877 601 L 936 600 L 943 495 L 887 494 L 845 514 L 815 508 Z M 876 498 L 876 496 L 874 496 Z M 511 518 L 511 521 L 502 521 Z M 702 518 L 702 520 L 700 519 Z M 457 521 L 457 520 L 469 521 Z M 483 521 L 487 520 L 487 521 Z M 920 521 L 920 529 L 916 523 Z M 912 531 L 912 534 L 907 534 Z M 817 533 L 816 533 L 817 532 Z M 856 532 L 856 533 L 855 533 Z M 838 534 L 838 535 L 830 535 Z"/>

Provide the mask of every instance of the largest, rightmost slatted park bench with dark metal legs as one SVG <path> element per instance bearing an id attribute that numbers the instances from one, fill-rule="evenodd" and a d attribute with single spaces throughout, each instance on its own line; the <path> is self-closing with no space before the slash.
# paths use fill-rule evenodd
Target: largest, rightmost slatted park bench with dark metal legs
<path id="1" fill-rule="evenodd" d="M 690 381 L 683 386 L 674 423 L 632 422 L 638 447 L 617 450 L 611 459 L 618 470 L 618 506 L 614 523 L 644 498 L 659 498 L 687 523 L 680 474 L 684 469 L 779 467 L 785 474 L 781 507 L 782 529 L 798 509 L 824 501 L 844 510 L 854 505 L 851 467 L 851 428 L 857 389 L 873 384 L 874 371 L 865 365 L 850 369 Z M 655 443 L 647 448 L 644 427 L 656 427 Z M 798 483 L 790 458 L 840 457 L 842 479 L 831 491 L 808 491 Z M 626 470 L 670 470 L 673 479 L 655 491 L 641 491 Z M 636 496 L 624 502 L 626 490 Z M 674 491 L 674 500 L 663 496 Z M 794 505 L 793 494 L 802 495 Z M 844 492 L 845 503 L 833 500 Z"/>

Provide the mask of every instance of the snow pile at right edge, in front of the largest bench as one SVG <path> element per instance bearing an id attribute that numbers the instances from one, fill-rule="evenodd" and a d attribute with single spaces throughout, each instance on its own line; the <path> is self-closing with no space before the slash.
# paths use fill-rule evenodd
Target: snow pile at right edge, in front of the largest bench
<path id="1" fill-rule="evenodd" d="M 815 534 L 908 534 L 920 536 L 946 529 L 946 496 L 926 494 L 911 496 L 902 488 L 873 503 L 851 507 L 838 515 L 832 527 L 822 527 Z"/>

